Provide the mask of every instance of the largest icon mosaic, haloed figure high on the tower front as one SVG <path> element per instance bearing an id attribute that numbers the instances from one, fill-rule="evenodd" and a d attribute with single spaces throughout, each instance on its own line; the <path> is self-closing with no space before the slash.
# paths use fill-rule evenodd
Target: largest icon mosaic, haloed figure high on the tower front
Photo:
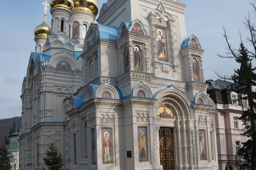
<path id="1" fill-rule="evenodd" d="M 157 58 L 159 61 L 168 62 L 166 30 L 155 28 Z"/>

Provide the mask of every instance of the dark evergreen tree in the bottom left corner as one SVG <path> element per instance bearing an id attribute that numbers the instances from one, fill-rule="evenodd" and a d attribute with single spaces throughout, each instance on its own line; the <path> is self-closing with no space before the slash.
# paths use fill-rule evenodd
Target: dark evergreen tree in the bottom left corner
<path id="1" fill-rule="evenodd" d="M 10 158 L 7 156 L 7 145 L 0 144 L 0 170 L 11 170 Z"/>

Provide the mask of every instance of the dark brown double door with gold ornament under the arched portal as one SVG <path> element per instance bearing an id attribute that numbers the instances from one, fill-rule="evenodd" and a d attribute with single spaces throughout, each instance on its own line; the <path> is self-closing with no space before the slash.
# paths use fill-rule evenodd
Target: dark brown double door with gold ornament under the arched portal
<path id="1" fill-rule="evenodd" d="M 174 170 L 172 128 L 159 129 L 160 164 L 164 170 Z"/>

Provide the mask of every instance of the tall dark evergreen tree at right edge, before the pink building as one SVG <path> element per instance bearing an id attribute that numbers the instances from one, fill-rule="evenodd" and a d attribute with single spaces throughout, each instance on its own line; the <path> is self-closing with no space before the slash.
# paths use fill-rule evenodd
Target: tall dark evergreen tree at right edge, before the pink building
<path id="1" fill-rule="evenodd" d="M 256 1 L 250 4 L 256 12 Z M 250 15 L 246 18 L 244 24 L 250 34 L 247 40 L 251 45 L 251 50 L 245 47 L 242 39 L 239 49 L 233 49 L 228 41 L 226 29 L 224 28 L 224 37 L 228 45 L 228 52 L 226 56 L 218 56 L 222 58 L 233 58 L 236 62 L 241 64 L 240 69 L 234 70 L 234 76 L 228 78 L 237 83 L 236 89 L 233 90 L 246 96 L 243 96 L 241 100 L 248 100 L 248 107 L 244 108 L 242 116 L 239 119 L 243 122 L 243 125 L 246 126 L 242 134 L 247 136 L 249 140 L 242 143 L 243 147 L 237 154 L 247 163 L 246 168 L 256 170 L 256 67 L 252 64 L 252 61 L 256 60 L 256 26 L 251 22 Z M 220 77 L 223 78 L 222 76 Z"/>

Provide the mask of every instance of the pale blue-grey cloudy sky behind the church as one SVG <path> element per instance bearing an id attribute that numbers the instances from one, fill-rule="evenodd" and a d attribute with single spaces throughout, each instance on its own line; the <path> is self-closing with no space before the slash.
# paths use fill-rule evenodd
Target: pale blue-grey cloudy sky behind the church
<path id="1" fill-rule="evenodd" d="M 43 21 L 43 0 L 12 1 L 0 10 L 0 119 L 21 116 L 21 86 L 26 76 L 30 52 L 35 50 L 33 30 Z M 100 6 L 107 0 L 99 0 Z M 134 0 L 135 1 L 135 0 Z M 239 30 L 243 40 L 248 36 L 242 23 L 251 11 L 246 0 L 183 0 L 187 35 L 194 34 L 204 52 L 203 67 L 206 79 L 217 79 L 213 70 L 231 75 L 238 65 L 229 59 L 220 59 L 217 53 L 226 51 L 223 25 L 230 42 L 237 47 Z M 254 13 L 253 20 L 255 21 Z M 48 12 L 47 23 L 51 16 Z"/>

